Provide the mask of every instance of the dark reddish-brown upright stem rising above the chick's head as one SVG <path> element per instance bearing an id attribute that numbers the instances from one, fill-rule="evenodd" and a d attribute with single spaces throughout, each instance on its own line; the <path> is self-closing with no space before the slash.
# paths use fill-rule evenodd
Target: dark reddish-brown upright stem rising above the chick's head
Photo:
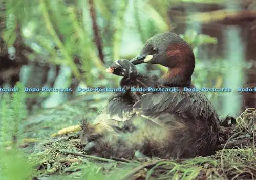
<path id="1" fill-rule="evenodd" d="M 90 16 L 92 18 L 92 23 L 93 23 L 94 42 L 98 49 L 99 58 L 104 63 L 104 54 L 102 50 L 102 42 L 101 42 L 101 37 L 99 33 L 99 28 L 97 24 L 97 16 L 96 16 L 96 11 L 94 6 L 94 0 L 89 0 L 88 4 L 90 9 Z"/>

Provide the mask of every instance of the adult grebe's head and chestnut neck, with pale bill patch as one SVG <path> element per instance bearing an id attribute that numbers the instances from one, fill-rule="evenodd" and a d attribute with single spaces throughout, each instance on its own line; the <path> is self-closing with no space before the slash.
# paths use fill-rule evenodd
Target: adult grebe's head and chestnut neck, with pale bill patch
<path id="1" fill-rule="evenodd" d="M 168 68 L 162 77 L 166 86 L 176 86 L 181 82 L 191 83 L 195 69 L 195 56 L 188 43 L 175 33 L 156 34 L 150 38 L 141 53 L 131 60 L 133 64 L 160 64 Z"/>

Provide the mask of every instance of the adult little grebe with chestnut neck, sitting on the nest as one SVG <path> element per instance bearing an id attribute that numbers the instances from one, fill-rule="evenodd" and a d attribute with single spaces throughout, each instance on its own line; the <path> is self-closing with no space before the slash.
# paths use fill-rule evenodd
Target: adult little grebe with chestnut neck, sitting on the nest
<path id="1" fill-rule="evenodd" d="M 135 65 L 151 63 L 167 67 L 167 73 L 158 81 L 161 86 L 180 89 L 193 87 L 191 75 L 195 68 L 194 53 L 174 33 L 153 36 L 146 42 L 140 55 L 131 62 Z M 132 109 L 136 116 L 133 115 L 131 119 L 140 119 L 143 123 L 153 122 L 154 128 L 143 126 L 125 135 L 112 136 L 110 132 L 97 140 L 94 150 L 98 155 L 127 158 L 139 150 L 147 156 L 189 158 L 206 156 L 216 150 L 219 143 L 219 117 L 201 92 L 181 90 L 147 93 L 135 102 Z"/>

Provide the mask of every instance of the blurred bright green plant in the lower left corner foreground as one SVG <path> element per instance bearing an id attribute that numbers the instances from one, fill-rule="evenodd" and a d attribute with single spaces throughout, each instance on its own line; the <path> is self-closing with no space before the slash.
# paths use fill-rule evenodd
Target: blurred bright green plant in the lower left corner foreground
<path id="1" fill-rule="evenodd" d="M 26 117 L 26 106 L 23 85 L 17 83 L 16 88 L 21 90 L 20 93 L 14 93 L 13 97 L 4 94 L 1 99 L 0 176 L 3 180 L 25 180 L 31 178 L 33 172 L 26 154 L 18 148 L 23 137 L 22 120 Z"/>

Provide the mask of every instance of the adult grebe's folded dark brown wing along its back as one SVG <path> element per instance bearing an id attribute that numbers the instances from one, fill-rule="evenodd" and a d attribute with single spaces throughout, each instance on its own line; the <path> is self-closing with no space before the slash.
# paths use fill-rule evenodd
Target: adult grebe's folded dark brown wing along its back
<path id="1" fill-rule="evenodd" d="M 147 93 L 134 104 L 133 109 L 138 115 L 148 119 L 215 119 L 214 124 L 219 123 L 214 107 L 200 92 Z"/>

